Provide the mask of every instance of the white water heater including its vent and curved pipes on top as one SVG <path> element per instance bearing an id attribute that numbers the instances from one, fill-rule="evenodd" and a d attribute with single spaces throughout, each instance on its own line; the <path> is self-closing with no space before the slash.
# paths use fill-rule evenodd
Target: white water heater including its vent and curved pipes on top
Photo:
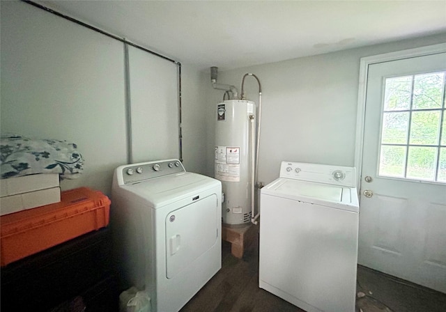
<path id="1" fill-rule="evenodd" d="M 245 100 L 245 78 L 259 84 L 258 106 Z M 222 182 L 222 221 L 226 226 L 257 224 L 254 199 L 259 169 L 262 91 L 259 78 L 247 73 L 242 79 L 238 100 L 235 86 L 217 83 L 217 67 L 210 68 L 213 88 L 226 91 L 223 102 L 215 107 L 215 178 Z M 228 95 L 229 100 L 225 100 Z"/>

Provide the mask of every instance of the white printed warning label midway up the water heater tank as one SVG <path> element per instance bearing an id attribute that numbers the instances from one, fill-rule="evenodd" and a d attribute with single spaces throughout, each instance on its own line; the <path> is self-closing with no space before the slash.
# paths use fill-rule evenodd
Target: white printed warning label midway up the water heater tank
<path id="1" fill-rule="evenodd" d="M 240 147 L 215 146 L 215 178 L 222 181 L 240 181 Z"/>

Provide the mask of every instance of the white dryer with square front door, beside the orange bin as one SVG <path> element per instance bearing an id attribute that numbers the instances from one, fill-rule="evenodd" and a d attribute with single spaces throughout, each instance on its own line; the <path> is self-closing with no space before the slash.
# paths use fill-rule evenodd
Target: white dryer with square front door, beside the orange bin
<path id="1" fill-rule="evenodd" d="M 221 182 L 178 159 L 119 166 L 110 226 L 121 287 L 145 289 L 151 311 L 179 311 L 222 267 Z"/>

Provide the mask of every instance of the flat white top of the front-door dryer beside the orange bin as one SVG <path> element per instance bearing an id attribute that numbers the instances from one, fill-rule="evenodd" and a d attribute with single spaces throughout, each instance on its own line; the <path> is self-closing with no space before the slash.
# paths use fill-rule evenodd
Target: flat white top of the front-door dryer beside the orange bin
<path id="1" fill-rule="evenodd" d="M 198 173 L 183 172 L 132 184 L 120 185 L 121 192 L 128 192 L 147 201 L 153 208 L 160 208 L 187 196 L 196 196 L 205 189 L 220 185 L 220 181 Z M 119 191 L 118 191 L 119 192 Z"/>

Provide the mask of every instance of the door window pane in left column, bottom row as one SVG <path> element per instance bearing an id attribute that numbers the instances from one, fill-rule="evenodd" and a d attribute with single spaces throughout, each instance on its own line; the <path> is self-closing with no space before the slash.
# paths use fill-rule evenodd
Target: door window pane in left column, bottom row
<path id="1" fill-rule="evenodd" d="M 379 175 L 404 178 L 406 146 L 381 146 Z"/>

